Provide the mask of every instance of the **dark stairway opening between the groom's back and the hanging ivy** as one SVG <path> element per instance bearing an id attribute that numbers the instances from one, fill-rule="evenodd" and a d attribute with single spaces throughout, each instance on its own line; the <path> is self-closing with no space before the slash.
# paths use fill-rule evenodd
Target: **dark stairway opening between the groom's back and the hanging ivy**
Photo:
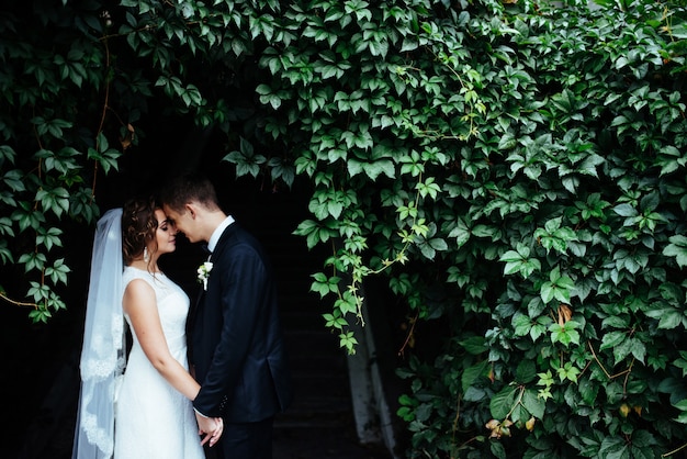
<path id="1" fill-rule="evenodd" d="M 292 234 L 307 219 L 306 205 L 290 193 L 262 195 L 250 222 L 274 265 L 294 382 L 292 406 L 274 423 L 274 459 L 388 458 L 358 443 L 346 352 L 322 317 L 330 300 L 309 291 L 311 275 L 330 254 L 308 250 L 305 238 Z"/>

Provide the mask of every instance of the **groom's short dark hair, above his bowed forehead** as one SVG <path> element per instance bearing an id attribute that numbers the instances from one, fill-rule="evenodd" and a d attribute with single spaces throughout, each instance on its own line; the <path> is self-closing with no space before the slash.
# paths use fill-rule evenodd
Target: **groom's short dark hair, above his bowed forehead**
<path id="1" fill-rule="evenodd" d="M 215 187 L 210 179 L 199 172 L 190 172 L 174 177 L 160 189 L 159 200 L 174 211 L 183 211 L 183 206 L 192 201 L 201 203 L 209 210 L 219 208 Z"/>

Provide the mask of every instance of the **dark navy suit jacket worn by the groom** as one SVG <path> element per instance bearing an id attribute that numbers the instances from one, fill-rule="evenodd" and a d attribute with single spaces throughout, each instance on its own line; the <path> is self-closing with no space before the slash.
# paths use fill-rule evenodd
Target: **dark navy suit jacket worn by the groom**
<path id="1" fill-rule="evenodd" d="M 201 384 L 193 406 L 230 423 L 266 419 L 286 408 L 292 392 L 270 265 L 237 223 L 224 231 L 211 261 L 207 291 L 189 316 L 190 359 Z"/>

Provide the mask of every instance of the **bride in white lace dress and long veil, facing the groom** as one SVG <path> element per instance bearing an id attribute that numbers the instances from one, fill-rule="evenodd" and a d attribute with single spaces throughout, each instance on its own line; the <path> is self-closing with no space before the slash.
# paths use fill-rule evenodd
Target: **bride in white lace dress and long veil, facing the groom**
<path id="1" fill-rule="evenodd" d="M 176 249 L 176 234 L 153 200 L 131 200 L 98 222 L 72 459 L 202 459 L 202 445 L 222 435 L 218 417 L 210 432 L 199 430 L 191 402 L 200 385 L 188 372 L 184 333 L 189 298 L 157 264 Z"/>

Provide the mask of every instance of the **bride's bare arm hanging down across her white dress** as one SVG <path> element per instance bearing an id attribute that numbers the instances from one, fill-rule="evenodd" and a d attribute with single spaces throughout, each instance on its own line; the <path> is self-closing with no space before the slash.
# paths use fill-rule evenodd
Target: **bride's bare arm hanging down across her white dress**
<path id="1" fill-rule="evenodd" d="M 169 351 L 153 288 L 144 280 L 132 280 L 124 290 L 122 305 L 153 367 L 187 399 L 195 399 L 201 387 Z"/>

